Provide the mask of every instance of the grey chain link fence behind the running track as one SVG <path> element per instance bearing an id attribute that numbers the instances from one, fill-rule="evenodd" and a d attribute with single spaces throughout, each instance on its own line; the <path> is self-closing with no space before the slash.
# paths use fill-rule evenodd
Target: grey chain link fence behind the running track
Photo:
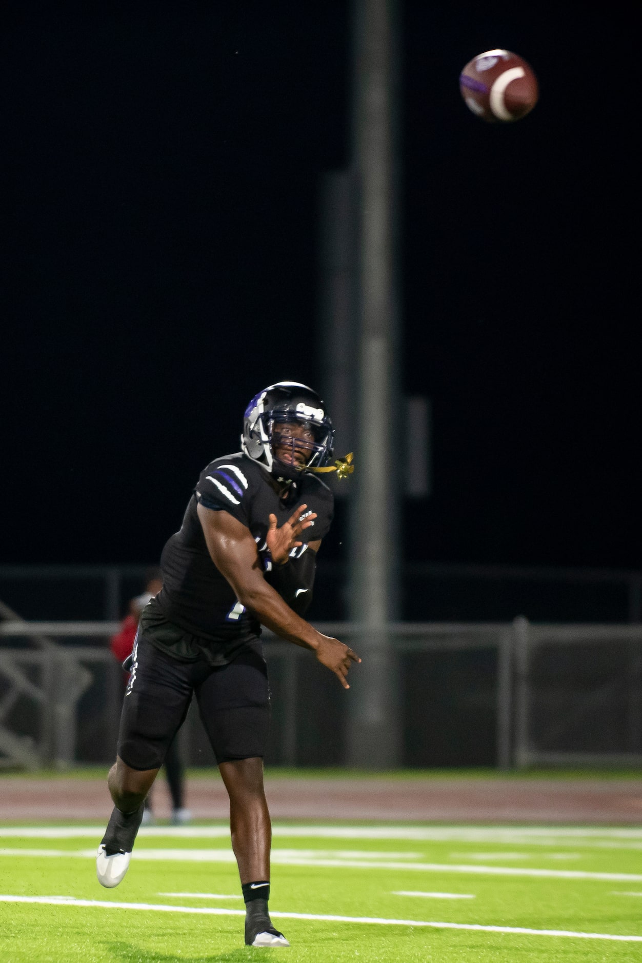
<path id="1" fill-rule="evenodd" d="M 319 629 L 359 651 L 349 623 Z M 0 623 L 0 766 L 114 760 L 124 673 L 117 622 Z M 407 767 L 642 764 L 642 626 L 398 623 L 401 757 Z M 265 634 L 272 708 L 268 761 L 341 766 L 350 692 L 312 653 Z M 358 672 L 358 668 L 354 669 Z M 182 740 L 215 760 L 197 713 Z"/>

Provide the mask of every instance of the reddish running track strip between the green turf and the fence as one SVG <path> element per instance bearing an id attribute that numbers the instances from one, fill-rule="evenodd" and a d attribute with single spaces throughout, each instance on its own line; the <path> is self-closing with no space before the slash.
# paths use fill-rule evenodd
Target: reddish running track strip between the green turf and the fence
<path id="1" fill-rule="evenodd" d="M 107 775 L 107 773 L 105 773 Z M 442 822 L 642 823 L 642 778 L 266 780 L 273 819 L 438 820 Z M 187 806 L 198 820 L 227 819 L 217 777 L 190 779 Z M 0 776 L 0 820 L 106 820 L 112 810 L 102 780 Z M 163 777 L 154 812 L 169 814 Z"/>

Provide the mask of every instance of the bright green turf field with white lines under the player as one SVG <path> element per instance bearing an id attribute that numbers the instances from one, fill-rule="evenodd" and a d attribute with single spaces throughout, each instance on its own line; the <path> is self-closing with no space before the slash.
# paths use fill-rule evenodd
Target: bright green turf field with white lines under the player
<path id="1" fill-rule="evenodd" d="M 642 829 L 277 823 L 290 950 L 243 946 L 226 826 L 142 829 L 115 890 L 95 878 L 102 831 L 0 827 L 3 963 L 642 960 Z"/>

